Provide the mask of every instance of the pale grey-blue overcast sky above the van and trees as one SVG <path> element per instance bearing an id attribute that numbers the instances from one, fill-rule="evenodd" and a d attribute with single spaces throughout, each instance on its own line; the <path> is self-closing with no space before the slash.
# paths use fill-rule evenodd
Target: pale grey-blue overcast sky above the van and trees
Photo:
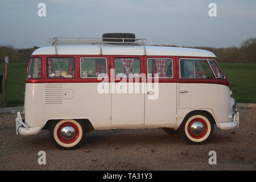
<path id="1" fill-rule="evenodd" d="M 38 4 L 46 3 L 46 17 Z M 217 17 L 209 17 L 209 3 Z M 256 37 L 255 0 L 1 0 L 0 45 L 48 46 L 55 36 L 132 32 L 147 44 L 239 47 Z"/>

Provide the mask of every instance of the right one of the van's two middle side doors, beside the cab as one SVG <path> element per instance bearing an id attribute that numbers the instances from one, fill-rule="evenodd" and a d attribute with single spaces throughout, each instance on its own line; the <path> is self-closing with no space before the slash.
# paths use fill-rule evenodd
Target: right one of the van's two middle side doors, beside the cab
<path id="1" fill-rule="evenodd" d="M 177 82 L 175 57 L 145 56 L 147 73 L 145 125 L 175 125 Z M 152 82 L 152 86 L 150 86 Z M 154 97 L 155 96 L 155 97 Z"/>

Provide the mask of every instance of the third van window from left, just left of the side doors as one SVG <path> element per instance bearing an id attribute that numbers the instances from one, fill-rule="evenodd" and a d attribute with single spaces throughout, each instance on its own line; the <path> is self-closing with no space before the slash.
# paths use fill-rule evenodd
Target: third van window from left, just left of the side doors
<path id="1" fill-rule="evenodd" d="M 106 58 L 81 58 L 80 59 L 81 78 L 105 78 L 107 77 Z"/>

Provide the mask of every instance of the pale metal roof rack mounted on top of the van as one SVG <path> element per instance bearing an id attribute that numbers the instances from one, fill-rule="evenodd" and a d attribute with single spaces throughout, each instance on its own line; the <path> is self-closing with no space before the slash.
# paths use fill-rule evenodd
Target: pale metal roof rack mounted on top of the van
<path id="1" fill-rule="evenodd" d="M 109 39 L 109 41 L 103 41 Z M 121 40 L 121 42 L 112 42 L 111 40 Z M 126 40 L 134 40 L 134 42 L 125 42 Z M 102 55 L 101 44 L 131 44 L 137 46 L 144 47 L 144 53 L 146 55 L 145 43 L 147 39 L 132 39 L 132 38 L 64 38 L 64 37 L 56 37 L 49 39 L 49 42 L 52 46 L 55 47 L 55 54 L 57 55 L 57 45 L 58 44 L 100 44 L 100 54 Z"/>

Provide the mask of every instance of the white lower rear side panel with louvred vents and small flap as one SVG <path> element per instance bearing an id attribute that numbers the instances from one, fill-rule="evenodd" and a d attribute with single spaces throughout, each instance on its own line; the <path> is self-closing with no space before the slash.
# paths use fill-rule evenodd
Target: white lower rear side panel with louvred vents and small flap
<path id="1" fill-rule="evenodd" d="M 29 127 L 43 127 L 50 119 L 89 119 L 94 129 L 109 129 L 111 95 L 98 93 L 97 85 L 26 84 L 26 123 Z"/>

